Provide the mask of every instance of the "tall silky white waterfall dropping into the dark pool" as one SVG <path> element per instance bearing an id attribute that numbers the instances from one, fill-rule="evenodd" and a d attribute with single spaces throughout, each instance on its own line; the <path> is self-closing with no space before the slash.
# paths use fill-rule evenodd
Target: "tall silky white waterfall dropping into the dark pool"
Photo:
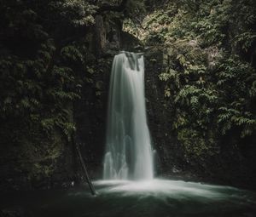
<path id="1" fill-rule="evenodd" d="M 106 143 L 104 180 L 153 179 L 143 54 L 120 52 L 113 59 Z"/>

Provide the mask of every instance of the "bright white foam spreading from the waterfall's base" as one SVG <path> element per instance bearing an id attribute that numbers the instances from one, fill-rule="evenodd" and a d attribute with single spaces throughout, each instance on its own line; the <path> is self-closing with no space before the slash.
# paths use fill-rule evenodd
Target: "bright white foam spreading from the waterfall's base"
<path id="1" fill-rule="evenodd" d="M 249 202 L 248 191 L 231 186 L 214 186 L 182 180 L 99 180 L 94 184 L 99 187 L 100 194 L 114 194 L 116 197 L 193 199 L 201 202 Z"/>

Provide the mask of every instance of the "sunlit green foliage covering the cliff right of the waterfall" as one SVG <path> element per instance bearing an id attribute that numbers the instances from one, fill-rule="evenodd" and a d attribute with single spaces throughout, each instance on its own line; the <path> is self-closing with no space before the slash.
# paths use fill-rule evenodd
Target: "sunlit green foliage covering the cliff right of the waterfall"
<path id="1" fill-rule="evenodd" d="M 137 32 L 146 46 L 163 49 L 159 79 L 173 136 L 190 160 L 217 155 L 226 136 L 244 146 L 256 129 L 255 3 L 164 3 Z"/>

